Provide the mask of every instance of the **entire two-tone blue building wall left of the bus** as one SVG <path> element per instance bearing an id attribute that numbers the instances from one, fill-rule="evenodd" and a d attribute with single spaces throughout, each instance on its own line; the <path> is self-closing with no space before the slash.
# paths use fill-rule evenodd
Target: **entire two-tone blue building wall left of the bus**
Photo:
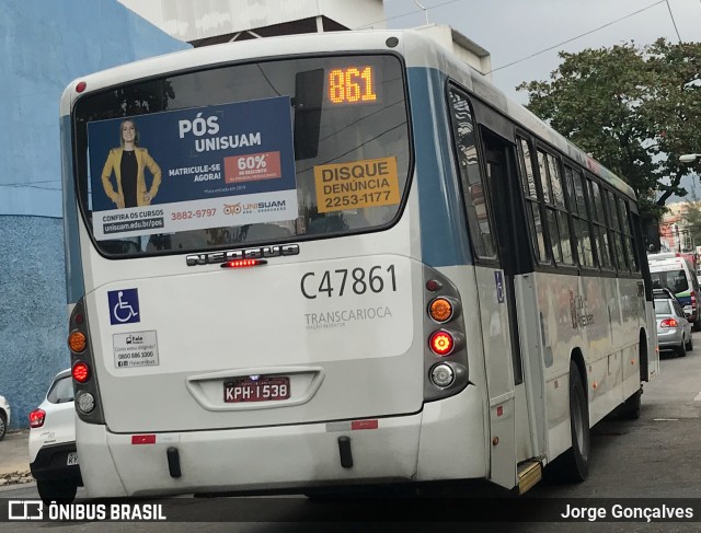
<path id="1" fill-rule="evenodd" d="M 117 0 L 2 0 L 0 395 L 26 427 L 69 363 L 58 104 L 96 70 L 191 48 Z"/>

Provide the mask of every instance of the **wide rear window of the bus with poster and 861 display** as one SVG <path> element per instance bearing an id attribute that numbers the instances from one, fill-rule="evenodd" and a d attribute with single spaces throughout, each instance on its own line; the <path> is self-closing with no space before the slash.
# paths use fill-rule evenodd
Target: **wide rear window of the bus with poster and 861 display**
<path id="1" fill-rule="evenodd" d="M 287 59 L 122 84 L 73 112 L 77 188 L 108 257 L 371 231 L 410 167 L 390 55 Z"/>

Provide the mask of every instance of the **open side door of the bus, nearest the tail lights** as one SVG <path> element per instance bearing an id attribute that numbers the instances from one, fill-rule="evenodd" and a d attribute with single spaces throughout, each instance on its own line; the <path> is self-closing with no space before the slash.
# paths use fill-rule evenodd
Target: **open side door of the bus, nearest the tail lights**
<path id="1" fill-rule="evenodd" d="M 527 346 L 538 335 L 537 322 L 527 316 L 527 310 L 536 309 L 537 298 L 532 275 L 526 277 L 526 282 L 520 276 L 519 286 L 516 286 L 517 275 L 532 269 L 525 218 L 517 196 L 520 188 L 515 146 L 485 127 L 481 129 L 481 139 L 501 266 L 493 274 L 491 287 L 489 282 L 479 283 L 479 290 L 486 291 L 479 297 L 484 346 L 489 347 L 485 348 L 485 364 L 492 434 L 491 477 L 499 485 L 510 483 L 514 486 L 518 464 L 543 453 L 544 413 L 542 402 L 533 401 L 539 394 L 542 397 L 542 389 L 535 386 L 542 383 L 540 359 L 529 361 L 524 356 L 530 352 Z M 490 305 L 491 301 L 496 305 Z M 498 325 L 495 326 L 497 316 Z M 494 335 L 495 327 L 502 329 L 499 335 Z M 531 364 L 535 364 L 532 371 L 525 371 L 525 366 Z M 525 374 L 529 378 L 529 390 Z M 506 410 L 508 416 L 505 416 Z M 496 444 L 495 439 L 498 439 Z"/>

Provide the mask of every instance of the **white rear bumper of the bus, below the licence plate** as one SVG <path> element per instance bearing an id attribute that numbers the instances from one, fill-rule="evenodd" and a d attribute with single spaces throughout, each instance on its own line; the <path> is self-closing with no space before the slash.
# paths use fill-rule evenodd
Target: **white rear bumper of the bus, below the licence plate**
<path id="1" fill-rule="evenodd" d="M 468 389 L 467 394 L 478 396 L 474 387 Z M 353 429 L 350 421 L 335 421 L 134 439 L 153 443 L 133 443 L 133 434 L 78 420 L 78 450 L 83 472 L 90 473 L 84 483 L 91 498 L 483 478 L 484 436 L 475 430 L 483 424 L 468 420 L 464 406 L 472 402 L 464 395 L 427 404 L 415 415 L 380 418 L 377 428 L 366 424 Z M 342 461 L 340 438 L 349 441 L 350 466 L 347 454 Z M 169 449 L 177 450 L 180 477 L 169 468 Z"/>

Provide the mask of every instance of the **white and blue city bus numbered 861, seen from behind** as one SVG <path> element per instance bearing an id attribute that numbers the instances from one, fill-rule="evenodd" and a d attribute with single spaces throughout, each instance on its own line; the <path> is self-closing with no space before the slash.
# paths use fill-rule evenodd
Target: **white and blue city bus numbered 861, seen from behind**
<path id="1" fill-rule="evenodd" d="M 584 479 L 658 370 L 632 189 L 421 33 L 126 65 L 61 131 L 91 497 Z"/>

